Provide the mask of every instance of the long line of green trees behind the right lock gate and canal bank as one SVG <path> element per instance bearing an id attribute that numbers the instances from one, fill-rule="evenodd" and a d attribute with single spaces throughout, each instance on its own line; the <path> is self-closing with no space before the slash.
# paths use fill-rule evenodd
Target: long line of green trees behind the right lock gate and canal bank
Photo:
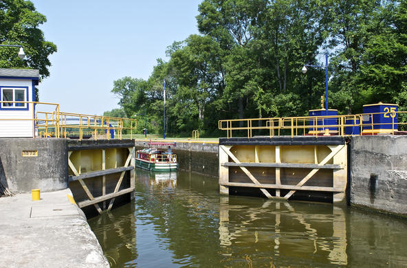
<path id="1" fill-rule="evenodd" d="M 329 108 L 407 108 L 407 1 L 203 0 L 199 34 L 176 41 L 148 79 L 113 82 L 120 109 L 149 133 L 219 135 L 218 120 L 307 115 L 320 108 L 329 54 Z M 141 115 L 142 114 L 142 115 Z"/>

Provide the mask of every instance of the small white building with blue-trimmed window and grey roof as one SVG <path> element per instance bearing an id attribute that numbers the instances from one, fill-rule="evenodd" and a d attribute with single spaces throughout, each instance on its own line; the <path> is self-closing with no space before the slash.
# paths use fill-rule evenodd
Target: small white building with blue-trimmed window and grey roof
<path id="1" fill-rule="evenodd" d="M 0 137 L 34 137 L 39 70 L 0 69 Z"/>

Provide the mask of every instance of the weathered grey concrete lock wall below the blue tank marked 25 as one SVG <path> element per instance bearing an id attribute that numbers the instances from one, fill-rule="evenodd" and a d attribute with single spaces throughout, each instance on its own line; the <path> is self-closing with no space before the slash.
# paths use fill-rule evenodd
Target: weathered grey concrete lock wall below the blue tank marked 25
<path id="1" fill-rule="evenodd" d="M 407 136 L 351 139 L 350 203 L 407 215 Z"/>

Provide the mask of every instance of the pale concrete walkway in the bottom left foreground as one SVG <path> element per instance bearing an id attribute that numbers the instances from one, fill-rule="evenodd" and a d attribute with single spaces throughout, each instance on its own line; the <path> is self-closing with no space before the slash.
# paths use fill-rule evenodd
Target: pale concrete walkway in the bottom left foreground
<path id="1" fill-rule="evenodd" d="M 0 198 L 0 267 L 109 267 L 69 189 Z"/>

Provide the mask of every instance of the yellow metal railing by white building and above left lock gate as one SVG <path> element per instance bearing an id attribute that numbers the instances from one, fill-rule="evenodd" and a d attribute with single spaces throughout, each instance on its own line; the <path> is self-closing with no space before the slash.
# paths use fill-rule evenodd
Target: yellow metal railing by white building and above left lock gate
<path id="1" fill-rule="evenodd" d="M 12 105 L 12 109 L 8 110 L 10 106 L 5 107 L 4 104 Z M 0 101 L 0 105 L 3 108 L 2 111 L 8 111 L 7 113 L 0 113 L 1 127 L 14 128 L 14 125 L 4 123 L 6 121 L 31 122 L 32 137 L 122 139 L 122 133 L 127 131 L 130 133 L 130 138 L 133 138 L 133 132 L 137 127 L 135 119 L 65 113 L 61 112 L 59 104 L 55 103 Z M 41 105 L 45 105 L 45 110 L 48 111 L 41 111 L 39 109 L 42 107 Z M 12 131 L 17 131 L 18 128 L 14 129 Z"/>

